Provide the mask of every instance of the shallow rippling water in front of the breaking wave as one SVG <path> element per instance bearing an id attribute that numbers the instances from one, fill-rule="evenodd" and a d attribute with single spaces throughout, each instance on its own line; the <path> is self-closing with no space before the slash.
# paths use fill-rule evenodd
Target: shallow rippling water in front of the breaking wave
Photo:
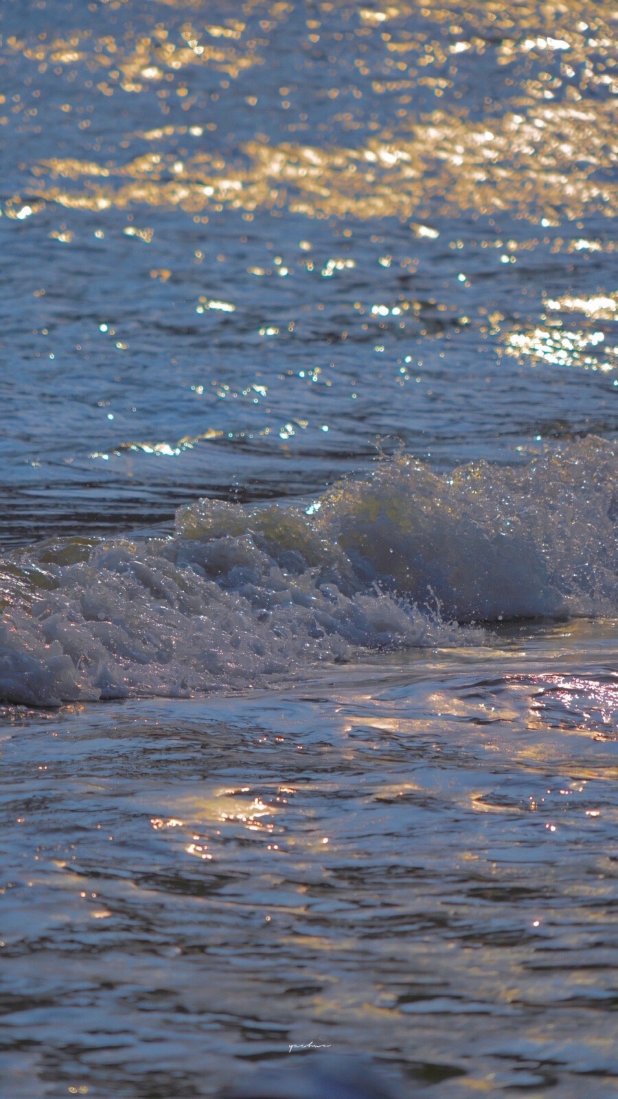
<path id="1" fill-rule="evenodd" d="M 316 1042 L 445 1097 L 615 1095 L 614 657 L 582 622 L 5 711 L 2 1094 L 212 1095 Z"/>

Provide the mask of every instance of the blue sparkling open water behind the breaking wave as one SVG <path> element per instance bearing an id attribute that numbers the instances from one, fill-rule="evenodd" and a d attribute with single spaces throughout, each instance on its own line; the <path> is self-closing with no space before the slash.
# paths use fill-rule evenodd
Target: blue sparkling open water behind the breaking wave
<path id="1" fill-rule="evenodd" d="M 322 9 L 4 5 L 5 545 L 615 437 L 609 7 Z"/>

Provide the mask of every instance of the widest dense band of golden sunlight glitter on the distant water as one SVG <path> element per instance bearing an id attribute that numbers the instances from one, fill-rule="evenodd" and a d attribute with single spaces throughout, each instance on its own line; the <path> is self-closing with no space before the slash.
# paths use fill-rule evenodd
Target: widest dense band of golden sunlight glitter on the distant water
<path id="1" fill-rule="evenodd" d="M 396 141 L 385 133 L 358 147 L 250 141 L 238 160 L 208 146 L 183 160 L 163 149 L 125 164 L 53 157 L 33 166 L 30 190 L 37 200 L 96 211 L 178 206 L 197 215 L 224 207 L 247 213 L 287 207 L 309 218 L 413 219 L 431 202 L 441 214 L 510 210 L 531 221 L 544 214 L 548 223 L 558 211 L 559 220 L 592 211 L 615 217 L 617 185 L 598 180 L 614 163 L 611 104 L 585 112 L 552 104 L 526 118 L 507 113 L 492 125 L 435 111 L 408 132 L 402 125 Z M 565 133 L 586 151 L 576 169 Z M 58 180 L 85 187 L 68 189 Z M 421 225 L 418 234 L 432 231 Z M 338 260 L 331 263 L 338 269 Z"/>

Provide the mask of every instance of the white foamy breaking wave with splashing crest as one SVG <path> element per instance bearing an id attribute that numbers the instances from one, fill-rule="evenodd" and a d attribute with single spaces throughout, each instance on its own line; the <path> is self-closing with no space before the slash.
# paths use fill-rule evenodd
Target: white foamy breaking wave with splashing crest
<path id="1" fill-rule="evenodd" d="M 170 539 L 69 539 L 0 563 L 0 697 L 250 687 L 358 650 L 481 642 L 461 623 L 613 613 L 617 456 L 376 466 L 302 511 L 199 500 Z M 460 623 L 460 624 L 457 624 Z"/>

